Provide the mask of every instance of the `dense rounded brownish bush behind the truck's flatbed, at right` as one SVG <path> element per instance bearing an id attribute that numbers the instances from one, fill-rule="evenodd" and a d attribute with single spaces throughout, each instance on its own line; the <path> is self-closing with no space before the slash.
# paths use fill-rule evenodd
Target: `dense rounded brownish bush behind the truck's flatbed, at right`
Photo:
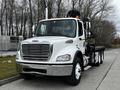
<path id="1" fill-rule="evenodd" d="M 110 47 L 112 45 L 112 40 L 114 39 L 114 34 L 116 32 L 115 25 L 109 21 L 101 21 L 99 28 L 96 28 L 96 44 L 97 45 L 104 45 Z"/>

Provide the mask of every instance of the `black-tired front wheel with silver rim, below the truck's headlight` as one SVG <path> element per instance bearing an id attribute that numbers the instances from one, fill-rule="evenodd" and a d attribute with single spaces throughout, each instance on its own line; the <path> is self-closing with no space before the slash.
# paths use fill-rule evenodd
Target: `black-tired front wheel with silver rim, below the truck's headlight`
<path id="1" fill-rule="evenodd" d="M 71 85 L 78 85 L 80 83 L 82 75 L 82 67 L 80 64 L 79 58 L 76 58 L 76 60 L 73 62 L 73 69 L 71 76 L 67 77 L 67 81 Z"/>

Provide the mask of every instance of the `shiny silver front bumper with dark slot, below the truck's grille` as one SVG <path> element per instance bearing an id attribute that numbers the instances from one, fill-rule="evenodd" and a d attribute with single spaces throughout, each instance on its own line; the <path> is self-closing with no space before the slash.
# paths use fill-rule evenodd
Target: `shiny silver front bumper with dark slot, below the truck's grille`
<path id="1" fill-rule="evenodd" d="M 23 74 L 38 74 L 47 76 L 70 76 L 72 73 L 72 64 L 68 65 L 39 65 L 39 64 L 23 64 L 19 63 L 17 69 Z"/>

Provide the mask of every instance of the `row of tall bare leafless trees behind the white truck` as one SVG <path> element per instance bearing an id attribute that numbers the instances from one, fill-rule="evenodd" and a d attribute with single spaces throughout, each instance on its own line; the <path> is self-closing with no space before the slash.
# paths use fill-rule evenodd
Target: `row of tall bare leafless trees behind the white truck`
<path id="1" fill-rule="evenodd" d="M 102 38 L 103 34 L 112 35 L 115 32 L 113 23 L 104 20 L 112 10 L 109 2 L 110 0 L 1 0 L 0 34 L 32 37 L 33 25 L 45 18 L 47 6 L 48 18 L 66 17 L 69 10 L 78 10 L 81 18 L 90 18 L 91 30 Z"/>

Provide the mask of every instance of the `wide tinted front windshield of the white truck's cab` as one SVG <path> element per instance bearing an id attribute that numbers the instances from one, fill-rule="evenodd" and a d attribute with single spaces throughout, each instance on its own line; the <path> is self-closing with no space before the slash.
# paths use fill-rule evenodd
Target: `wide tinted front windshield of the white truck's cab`
<path id="1" fill-rule="evenodd" d="M 72 19 L 40 22 L 36 28 L 36 36 L 75 37 L 76 22 Z"/>

